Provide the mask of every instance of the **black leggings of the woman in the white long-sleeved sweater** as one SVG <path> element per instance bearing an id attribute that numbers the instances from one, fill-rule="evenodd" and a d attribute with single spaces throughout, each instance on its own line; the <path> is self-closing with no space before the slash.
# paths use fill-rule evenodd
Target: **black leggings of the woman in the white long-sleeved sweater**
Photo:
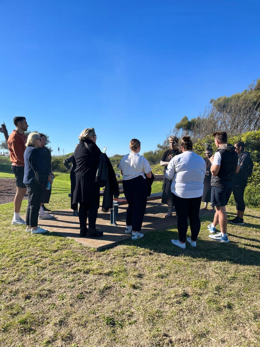
<path id="1" fill-rule="evenodd" d="M 176 210 L 176 215 L 178 218 L 177 228 L 179 233 L 179 240 L 181 242 L 186 241 L 186 234 L 188 230 L 188 218 L 190 220 L 191 228 L 191 239 L 193 241 L 197 240 L 201 229 L 200 221 L 200 207 L 202 197 L 198 198 L 180 198 L 172 193 L 173 202 Z"/>

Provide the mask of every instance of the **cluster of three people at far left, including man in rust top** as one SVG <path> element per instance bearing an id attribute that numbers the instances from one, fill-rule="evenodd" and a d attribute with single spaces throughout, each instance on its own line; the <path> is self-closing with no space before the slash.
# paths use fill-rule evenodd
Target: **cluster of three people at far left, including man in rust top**
<path id="1" fill-rule="evenodd" d="M 51 152 L 45 146 L 46 136 L 44 134 L 32 132 L 26 138 L 24 132 L 27 131 L 29 125 L 25 117 L 14 117 L 13 122 L 16 129 L 12 131 L 7 141 L 11 169 L 16 179 L 11 224 L 26 225 L 26 231 L 31 233 L 45 233 L 48 230 L 38 226 L 38 219 L 54 218 L 44 206 L 49 203 L 54 178 Z M 50 187 L 46 189 L 48 181 Z M 26 191 L 28 205 L 24 221 L 20 217 L 20 209 Z"/>

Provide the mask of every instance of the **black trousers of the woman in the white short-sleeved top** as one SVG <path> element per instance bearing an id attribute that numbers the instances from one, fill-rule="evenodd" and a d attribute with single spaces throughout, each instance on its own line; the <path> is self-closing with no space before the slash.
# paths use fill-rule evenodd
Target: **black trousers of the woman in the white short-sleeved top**
<path id="1" fill-rule="evenodd" d="M 143 176 L 123 180 L 125 198 L 128 202 L 126 225 L 133 231 L 141 231 L 147 203 L 147 181 Z"/>

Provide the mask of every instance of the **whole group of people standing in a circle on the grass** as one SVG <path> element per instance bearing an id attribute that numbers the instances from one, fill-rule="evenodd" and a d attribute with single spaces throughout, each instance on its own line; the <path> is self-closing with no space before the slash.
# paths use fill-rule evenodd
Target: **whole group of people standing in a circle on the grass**
<path id="1" fill-rule="evenodd" d="M 44 203 L 50 200 L 52 184 L 51 153 L 45 147 L 46 137 L 36 132 L 26 139 L 24 132 L 28 128 L 25 117 L 15 117 L 13 130 L 8 139 L 12 172 L 16 177 L 17 192 L 14 199 L 13 225 L 27 226 L 31 233 L 45 233 L 46 229 L 38 226 L 38 218 L 53 218 L 44 211 Z M 178 239 L 172 239 L 173 245 L 186 248 L 188 219 L 191 237 L 187 238 L 191 246 L 196 247 L 201 222 L 199 217 L 201 201 L 205 207 L 210 201 L 212 209 L 216 208 L 213 222 L 208 225 L 209 237 L 219 242 L 229 242 L 227 236 L 227 216 L 225 206 L 233 191 L 236 200 L 237 217 L 230 220 L 233 224 L 244 224 L 245 203 L 243 199 L 247 184 L 246 168 L 249 155 L 244 152 L 243 142 L 235 146 L 227 144 L 227 134 L 216 131 L 213 134 L 217 151 L 213 155 L 210 146 L 206 148 L 203 159 L 193 152 L 189 136 L 183 136 L 180 146 L 175 136 L 170 136 L 170 149 L 165 151 L 160 165 L 164 167 L 162 202 L 167 204 L 168 213 L 176 211 Z M 77 209 L 81 237 L 100 237 L 102 231 L 96 229 L 98 209 L 100 206 L 100 187 L 104 188 L 103 210 L 113 206 L 113 196 L 118 197 L 118 183 L 108 157 L 97 146 L 97 135 L 94 128 L 86 128 L 79 135 L 79 144 L 71 156 L 73 184 L 71 185 L 71 207 Z M 132 139 L 130 153 L 122 157 L 119 169 L 123 176 L 123 190 L 128 202 L 126 212 L 126 234 L 133 240 L 144 237 L 141 233 L 146 211 L 149 187 L 153 182 L 153 173 L 149 162 L 140 155 L 141 143 Z M 67 165 L 67 163 L 66 163 Z M 210 179 L 210 181 L 209 181 Z M 235 179 L 235 185 L 233 181 Z M 242 183 L 241 183 L 242 182 Z M 22 198 L 28 192 L 26 221 L 20 217 Z M 87 228 L 88 220 L 88 228 Z M 220 232 L 216 227 L 219 224 Z"/>

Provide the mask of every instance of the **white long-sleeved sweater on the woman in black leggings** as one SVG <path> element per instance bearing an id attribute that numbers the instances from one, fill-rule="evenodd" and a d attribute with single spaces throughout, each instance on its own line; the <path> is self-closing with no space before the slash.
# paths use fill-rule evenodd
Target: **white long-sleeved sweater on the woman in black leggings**
<path id="1" fill-rule="evenodd" d="M 180 198 L 198 198 L 203 194 L 205 160 L 192 151 L 184 151 L 173 157 L 165 177 L 172 179 L 171 191 Z"/>

